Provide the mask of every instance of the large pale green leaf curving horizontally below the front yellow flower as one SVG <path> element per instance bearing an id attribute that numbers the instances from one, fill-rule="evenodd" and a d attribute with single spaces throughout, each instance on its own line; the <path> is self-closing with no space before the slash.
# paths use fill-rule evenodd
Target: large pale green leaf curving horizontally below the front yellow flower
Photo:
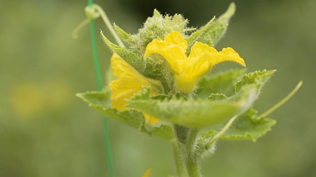
<path id="1" fill-rule="evenodd" d="M 150 87 L 134 94 L 128 106 L 141 110 L 161 120 L 191 128 L 203 128 L 243 114 L 258 98 L 264 83 L 275 71 L 256 71 L 243 76 L 237 83 L 236 94 L 227 99 L 153 99 L 149 96 Z M 252 82 L 248 82 L 251 79 Z"/>

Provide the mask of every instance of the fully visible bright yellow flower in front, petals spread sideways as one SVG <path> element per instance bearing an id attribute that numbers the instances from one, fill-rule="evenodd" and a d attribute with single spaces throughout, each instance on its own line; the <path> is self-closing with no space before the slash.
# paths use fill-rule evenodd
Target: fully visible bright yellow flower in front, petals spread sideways
<path id="1" fill-rule="evenodd" d="M 168 62 L 175 75 L 179 91 L 191 92 L 197 80 L 207 74 L 212 66 L 223 61 L 235 61 L 243 66 L 245 62 L 234 49 L 228 47 L 218 52 L 201 42 L 195 42 L 189 57 L 186 56 L 188 43 L 178 31 L 172 31 L 163 40 L 154 39 L 146 47 L 144 56 L 160 54 Z"/>

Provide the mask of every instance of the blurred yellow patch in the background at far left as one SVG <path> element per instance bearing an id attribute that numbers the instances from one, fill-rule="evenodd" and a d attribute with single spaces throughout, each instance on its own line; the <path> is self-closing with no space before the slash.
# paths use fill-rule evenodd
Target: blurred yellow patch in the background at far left
<path id="1" fill-rule="evenodd" d="M 65 80 L 16 85 L 9 97 L 13 113 L 20 118 L 29 119 L 43 117 L 49 110 L 66 109 L 74 93 L 71 89 Z"/>

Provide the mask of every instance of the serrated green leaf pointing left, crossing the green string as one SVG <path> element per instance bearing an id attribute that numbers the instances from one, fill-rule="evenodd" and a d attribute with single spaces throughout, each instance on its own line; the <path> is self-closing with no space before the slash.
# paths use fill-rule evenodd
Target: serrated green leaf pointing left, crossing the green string
<path id="1" fill-rule="evenodd" d="M 160 124 L 153 127 L 145 123 L 145 118 L 139 111 L 130 109 L 120 112 L 109 108 L 111 104 L 110 91 L 89 91 L 86 93 L 77 93 L 76 96 L 106 117 L 116 119 L 148 135 L 157 136 L 167 141 L 174 140 L 174 133 L 170 125 Z"/>

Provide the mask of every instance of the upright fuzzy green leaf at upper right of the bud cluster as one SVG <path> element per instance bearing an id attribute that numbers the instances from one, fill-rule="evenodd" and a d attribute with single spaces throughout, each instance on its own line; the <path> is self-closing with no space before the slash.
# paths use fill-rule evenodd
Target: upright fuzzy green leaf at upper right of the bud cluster
<path id="1" fill-rule="evenodd" d="M 212 25 L 201 35 L 198 41 L 208 45 L 216 45 L 217 42 L 224 36 L 229 25 L 231 17 L 236 11 L 236 5 L 232 2 L 227 11 L 222 14 Z"/>

